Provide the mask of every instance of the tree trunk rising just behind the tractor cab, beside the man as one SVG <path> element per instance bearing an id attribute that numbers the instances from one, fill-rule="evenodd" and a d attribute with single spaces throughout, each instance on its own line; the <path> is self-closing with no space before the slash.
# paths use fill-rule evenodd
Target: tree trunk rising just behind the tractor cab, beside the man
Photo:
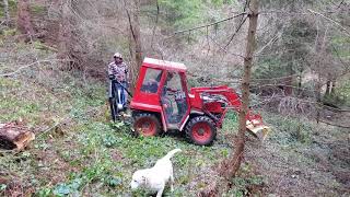
<path id="1" fill-rule="evenodd" d="M 126 5 L 126 12 L 128 15 L 129 21 L 129 31 L 130 31 L 130 56 L 131 56 L 131 88 L 135 86 L 136 81 L 139 77 L 139 70 L 142 65 L 142 45 L 140 39 L 140 22 L 139 22 L 139 14 L 140 14 L 140 1 L 133 0 L 131 3 Z M 133 92 L 133 90 L 131 90 Z"/>

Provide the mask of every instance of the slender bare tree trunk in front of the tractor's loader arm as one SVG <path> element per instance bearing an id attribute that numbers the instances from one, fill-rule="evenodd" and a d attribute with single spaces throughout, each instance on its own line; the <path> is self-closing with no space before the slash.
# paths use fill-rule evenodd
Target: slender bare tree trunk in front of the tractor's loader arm
<path id="1" fill-rule="evenodd" d="M 229 170 L 229 176 L 232 177 L 236 174 L 241 166 L 245 146 L 245 131 L 246 131 L 246 116 L 249 105 L 249 85 L 250 85 L 250 71 L 253 65 L 253 56 L 256 47 L 256 28 L 258 22 L 258 2 L 259 0 L 250 0 L 249 10 L 249 27 L 246 44 L 246 55 L 244 58 L 244 76 L 242 81 L 242 106 L 240 109 L 240 127 L 238 137 L 236 141 L 236 149 L 231 159 L 232 167 Z"/>

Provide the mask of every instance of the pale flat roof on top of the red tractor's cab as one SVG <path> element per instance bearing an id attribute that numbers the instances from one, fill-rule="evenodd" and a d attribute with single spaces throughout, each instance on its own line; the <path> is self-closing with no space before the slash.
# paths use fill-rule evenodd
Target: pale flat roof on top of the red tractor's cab
<path id="1" fill-rule="evenodd" d="M 142 66 L 159 68 L 162 70 L 174 70 L 185 72 L 187 70 L 186 66 L 180 62 L 165 61 L 162 59 L 144 58 Z"/>

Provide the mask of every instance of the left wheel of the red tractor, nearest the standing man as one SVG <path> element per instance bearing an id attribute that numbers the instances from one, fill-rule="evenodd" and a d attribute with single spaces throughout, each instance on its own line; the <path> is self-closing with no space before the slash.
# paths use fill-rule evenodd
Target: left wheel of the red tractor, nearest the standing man
<path id="1" fill-rule="evenodd" d="M 161 124 L 155 115 L 139 113 L 133 116 L 133 129 L 138 136 L 156 136 L 161 132 Z"/>

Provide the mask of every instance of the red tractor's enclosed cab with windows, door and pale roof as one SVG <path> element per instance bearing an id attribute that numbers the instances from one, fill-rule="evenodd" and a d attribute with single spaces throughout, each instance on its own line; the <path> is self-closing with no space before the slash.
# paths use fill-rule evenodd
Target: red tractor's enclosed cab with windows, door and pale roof
<path id="1" fill-rule="evenodd" d="M 158 116 L 165 131 L 180 130 L 189 114 L 186 70 L 184 63 L 145 58 L 130 108 Z"/>

